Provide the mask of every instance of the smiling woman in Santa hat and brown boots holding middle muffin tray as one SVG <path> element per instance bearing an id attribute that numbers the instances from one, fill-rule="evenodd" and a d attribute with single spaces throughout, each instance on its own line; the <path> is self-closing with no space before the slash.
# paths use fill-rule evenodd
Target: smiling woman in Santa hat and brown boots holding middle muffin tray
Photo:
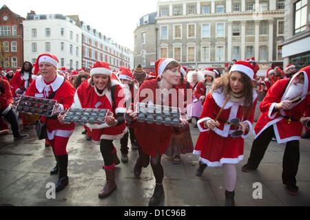
<path id="1" fill-rule="evenodd" d="M 99 192 L 99 198 L 107 197 L 116 190 L 117 156 L 113 140 L 121 139 L 127 133 L 123 116 L 126 112 L 124 90 L 118 80 L 111 78 L 111 74 L 109 63 L 96 62 L 90 71 L 91 77 L 76 89 L 72 104 L 74 109 L 109 109 L 114 115 L 107 115 L 103 124 L 85 124 L 91 130 L 92 140 L 100 143 L 105 163 L 106 184 Z"/>

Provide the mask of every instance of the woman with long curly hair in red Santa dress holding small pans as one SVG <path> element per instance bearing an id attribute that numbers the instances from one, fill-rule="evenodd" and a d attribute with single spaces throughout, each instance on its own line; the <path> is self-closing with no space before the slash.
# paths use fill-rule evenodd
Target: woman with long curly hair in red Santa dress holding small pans
<path id="1" fill-rule="evenodd" d="M 249 135 L 254 118 L 257 95 L 251 82 L 253 68 L 250 63 L 238 61 L 229 74 L 216 80 L 198 121 L 201 133 L 194 151 L 200 155 L 198 174 L 206 166 L 223 166 L 226 206 L 234 206 L 236 164 L 243 158 L 244 138 Z M 238 126 L 243 131 L 240 137 L 231 137 L 237 129 L 229 124 L 234 118 L 240 120 Z"/>

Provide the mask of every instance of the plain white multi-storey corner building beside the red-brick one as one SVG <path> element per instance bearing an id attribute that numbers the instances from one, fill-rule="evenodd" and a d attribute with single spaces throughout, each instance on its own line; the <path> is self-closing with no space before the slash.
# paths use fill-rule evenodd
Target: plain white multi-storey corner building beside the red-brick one
<path id="1" fill-rule="evenodd" d="M 34 63 L 39 54 L 53 54 L 59 67 L 82 67 L 82 30 L 63 14 L 28 14 L 23 21 L 24 60 Z"/>

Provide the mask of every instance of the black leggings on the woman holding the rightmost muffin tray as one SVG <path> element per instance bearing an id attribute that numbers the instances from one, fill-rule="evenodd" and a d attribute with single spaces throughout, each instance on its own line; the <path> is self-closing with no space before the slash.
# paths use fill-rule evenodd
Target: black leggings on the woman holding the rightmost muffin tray
<path id="1" fill-rule="evenodd" d="M 157 152 L 155 157 L 151 157 L 143 153 L 141 148 L 138 148 L 138 151 L 139 157 L 137 162 L 140 163 L 141 166 L 147 167 L 149 166 L 149 161 L 151 161 L 156 184 L 161 184 L 163 182 L 163 166 L 161 166 L 161 154 Z"/>

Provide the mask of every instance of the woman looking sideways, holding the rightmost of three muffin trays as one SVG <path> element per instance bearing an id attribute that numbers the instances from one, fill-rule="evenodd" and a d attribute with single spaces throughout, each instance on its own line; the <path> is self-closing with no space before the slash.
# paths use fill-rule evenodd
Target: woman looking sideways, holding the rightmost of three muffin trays
<path id="1" fill-rule="evenodd" d="M 180 63 L 172 58 L 161 58 L 155 63 L 155 72 L 158 78 L 145 81 L 139 91 L 136 100 L 148 104 L 160 104 L 170 107 L 178 107 L 178 83 L 180 82 Z M 183 107 L 183 99 L 179 103 Z M 136 139 L 141 148 L 138 149 L 139 157 L 134 166 L 134 175 L 139 177 L 142 167 L 147 167 L 151 163 L 156 179 L 154 194 L 149 200 L 149 206 L 158 206 L 165 196 L 163 190 L 163 166 L 161 165 L 161 155 L 165 153 L 169 146 L 169 140 L 174 131 L 173 126 L 163 124 L 147 124 L 146 122 L 136 122 L 136 113 L 127 111 L 125 115 L 128 123 L 134 127 Z M 186 124 L 187 121 L 182 121 Z"/>

